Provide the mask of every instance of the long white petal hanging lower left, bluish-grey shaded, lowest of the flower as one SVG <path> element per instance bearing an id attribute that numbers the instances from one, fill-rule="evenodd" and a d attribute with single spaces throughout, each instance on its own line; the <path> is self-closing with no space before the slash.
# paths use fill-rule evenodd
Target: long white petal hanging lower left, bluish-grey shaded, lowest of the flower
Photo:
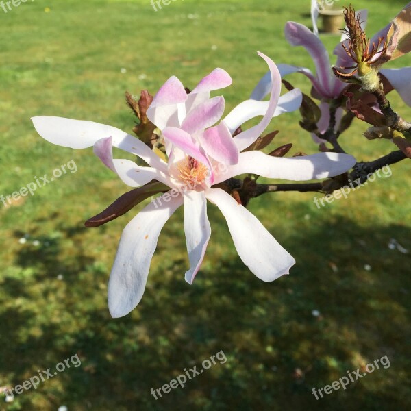
<path id="1" fill-rule="evenodd" d="M 164 202 L 162 195 L 143 208 L 123 230 L 108 282 L 108 308 L 114 318 L 127 315 L 140 302 L 158 236 L 182 203 L 182 195 L 171 197 L 168 202 Z"/>

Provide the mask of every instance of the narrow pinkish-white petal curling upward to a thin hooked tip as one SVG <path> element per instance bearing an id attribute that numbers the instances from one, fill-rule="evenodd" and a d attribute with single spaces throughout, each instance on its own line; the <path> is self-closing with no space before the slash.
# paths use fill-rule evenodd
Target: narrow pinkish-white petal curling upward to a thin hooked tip
<path id="1" fill-rule="evenodd" d="M 238 151 L 242 151 L 249 147 L 251 144 L 253 144 L 254 141 L 257 140 L 258 137 L 261 136 L 262 132 L 264 132 L 266 127 L 269 125 L 271 119 L 273 118 L 275 107 L 277 106 L 279 99 L 279 93 L 281 92 L 281 76 L 279 75 L 277 66 L 275 65 L 273 60 L 268 58 L 263 53 L 259 52 L 258 55 L 260 55 L 260 57 L 262 57 L 266 61 L 270 69 L 271 97 L 269 101 L 269 106 L 260 123 L 258 123 L 258 125 L 255 125 L 254 127 L 245 130 L 245 132 L 237 134 L 237 136 L 234 138 L 234 141 L 236 142 L 236 145 L 238 147 Z"/>

